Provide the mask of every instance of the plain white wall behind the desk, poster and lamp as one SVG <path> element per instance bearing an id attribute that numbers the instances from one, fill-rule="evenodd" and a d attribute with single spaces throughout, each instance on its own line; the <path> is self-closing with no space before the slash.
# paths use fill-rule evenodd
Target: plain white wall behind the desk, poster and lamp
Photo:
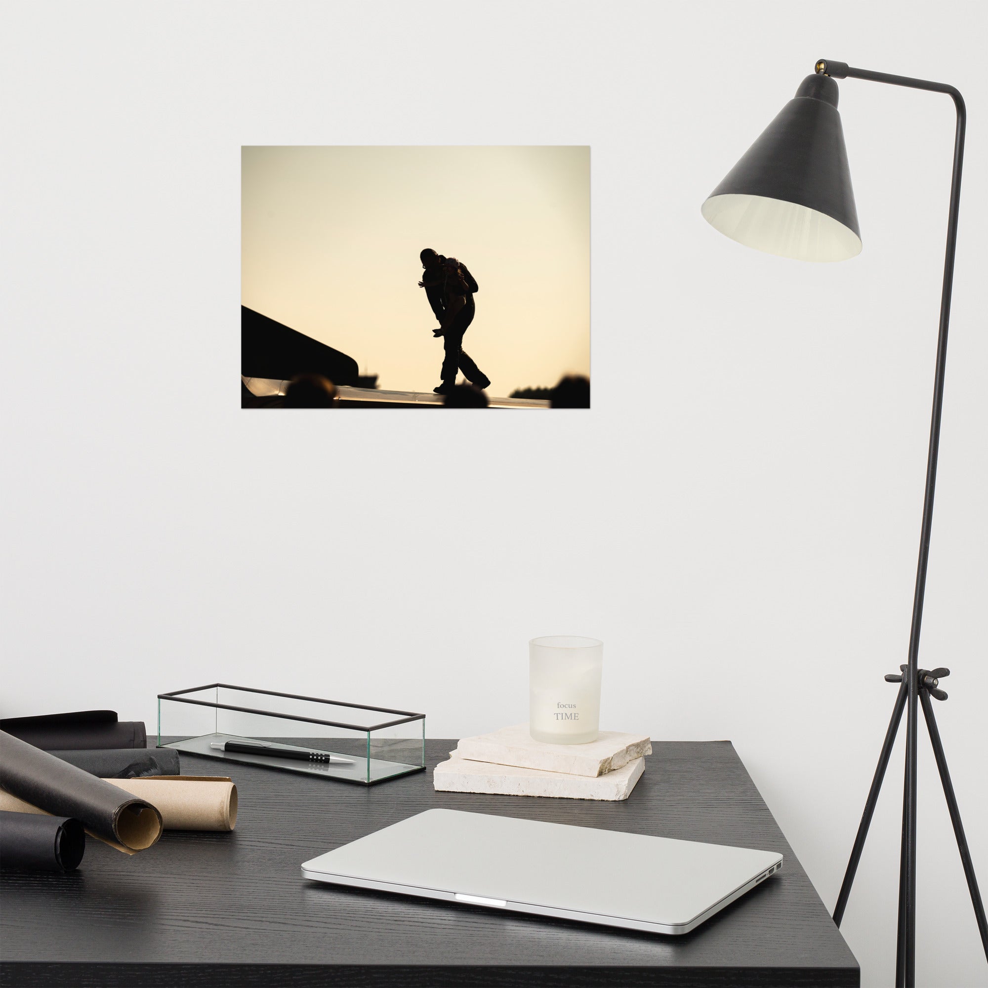
<path id="1" fill-rule="evenodd" d="M 3 17 L 3 711 L 216 679 L 524 719 L 526 641 L 607 643 L 604 721 L 730 738 L 832 907 L 905 661 L 946 97 L 849 80 L 864 253 L 700 203 L 816 58 L 970 111 L 922 662 L 988 886 L 983 4 L 20 4 Z M 443 98 L 428 94 L 441 87 Z M 237 407 L 241 144 L 592 145 L 589 413 Z M 985 960 L 921 743 L 918 981 Z M 844 931 L 894 963 L 901 746 Z"/>

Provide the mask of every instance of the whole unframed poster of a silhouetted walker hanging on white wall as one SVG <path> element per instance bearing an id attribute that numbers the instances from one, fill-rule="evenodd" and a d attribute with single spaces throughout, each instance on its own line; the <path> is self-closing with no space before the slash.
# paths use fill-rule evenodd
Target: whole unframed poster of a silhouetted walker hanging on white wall
<path id="1" fill-rule="evenodd" d="M 589 147 L 241 154 L 242 407 L 590 407 Z"/>

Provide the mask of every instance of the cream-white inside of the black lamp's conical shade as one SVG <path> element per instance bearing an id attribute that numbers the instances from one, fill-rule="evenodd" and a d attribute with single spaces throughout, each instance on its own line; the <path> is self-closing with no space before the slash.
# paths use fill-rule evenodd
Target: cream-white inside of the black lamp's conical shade
<path id="1" fill-rule="evenodd" d="M 703 218 L 747 247 L 797 261 L 846 261 L 861 253 L 861 237 L 825 212 L 782 199 L 727 193 L 711 196 Z"/>

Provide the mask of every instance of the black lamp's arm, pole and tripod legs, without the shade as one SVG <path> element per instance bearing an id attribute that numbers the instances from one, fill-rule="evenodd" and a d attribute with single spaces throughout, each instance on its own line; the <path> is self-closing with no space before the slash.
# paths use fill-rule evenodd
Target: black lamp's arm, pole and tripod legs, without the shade
<path id="1" fill-rule="evenodd" d="M 916 569 L 916 590 L 913 595 L 913 616 L 909 631 L 908 665 L 903 667 L 902 679 L 905 690 L 904 699 L 906 708 L 906 777 L 902 809 L 902 851 L 899 871 L 899 923 L 895 980 L 897 986 L 913 988 L 916 983 L 916 762 L 917 737 L 919 733 L 918 707 L 920 700 L 923 701 L 927 726 L 930 729 L 931 740 L 933 741 L 935 754 L 937 755 L 938 768 L 944 782 L 947 804 L 950 809 L 950 818 L 953 823 L 958 848 L 960 849 L 961 861 L 964 864 L 964 872 L 967 877 L 968 889 L 971 893 L 971 900 L 974 905 L 982 944 L 985 947 L 986 954 L 988 954 L 988 925 L 985 923 L 984 907 L 981 903 L 980 893 L 978 892 L 970 853 L 967 850 L 967 841 L 960 823 L 960 815 L 956 809 L 956 800 L 952 798 L 953 788 L 950 784 L 949 774 L 947 773 L 947 762 L 943 756 L 943 746 L 940 744 L 940 735 L 937 731 L 936 721 L 933 719 L 932 706 L 929 700 L 929 694 L 931 692 L 935 696 L 941 693 L 941 691 L 936 689 L 937 679 L 935 678 L 935 674 L 940 673 L 941 675 L 945 675 L 947 674 L 947 670 L 935 670 L 934 673 L 928 673 L 926 670 L 919 669 L 920 629 L 923 623 L 923 598 L 926 591 L 927 563 L 930 558 L 930 533 L 933 527 L 934 493 L 937 486 L 937 454 L 940 447 L 940 423 L 944 409 L 944 377 L 947 371 L 947 328 L 950 321 L 950 292 L 953 286 L 953 258 L 957 243 L 960 173 L 964 158 L 964 128 L 967 114 L 964 108 L 964 100 L 960 93 L 953 86 L 948 86 L 945 83 L 930 82 L 926 79 L 912 79 L 901 75 L 889 75 L 885 72 L 872 72 L 868 69 L 852 68 L 845 62 L 833 61 L 829 58 L 821 58 L 816 63 L 816 72 L 821 75 L 829 75 L 834 79 L 866 79 L 869 82 L 884 82 L 892 86 L 904 86 L 909 89 L 923 89 L 928 92 L 946 93 L 953 100 L 957 114 L 953 142 L 953 171 L 950 178 L 950 206 L 947 213 L 947 257 L 944 262 L 944 288 L 941 294 L 940 332 L 937 339 L 937 370 L 934 376 L 933 415 L 930 423 L 930 447 L 927 453 L 926 491 L 923 497 L 923 523 L 920 529 L 920 553 Z M 923 674 L 922 676 L 920 675 L 921 673 Z M 886 678 L 896 679 L 895 677 Z M 848 864 L 848 870 L 838 897 L 837 907 L 834 910 L 834 921 L 838 925 L 840 925 L 843 918 L 844 909 L 851 892 L 851 883 L 854 880 L 855 871 L 861 859 L 864 837 L 867 834 L 871 813 L 874 810 L 874 802 L 877 799 L 881 778 L 884 776 L 885 766 L 888 764 L 891 741 L 894 740 L 899 718 L 902 715 L 902 699 L 902 689 L 900 689 L 900 700 L 896 702 L 892 723 L 889 725 L 889 733 L 886 736 L 886 743 L 882 749 L 882 757 L 879 759 L 878 770 L 875 772 L 871 792 L 868 794 L 868 801 L 865 804 L 858 839 L 855 842 L 851 861 Z M 946 700 L 946 694 L 943 694 L 938 699 Z"/>

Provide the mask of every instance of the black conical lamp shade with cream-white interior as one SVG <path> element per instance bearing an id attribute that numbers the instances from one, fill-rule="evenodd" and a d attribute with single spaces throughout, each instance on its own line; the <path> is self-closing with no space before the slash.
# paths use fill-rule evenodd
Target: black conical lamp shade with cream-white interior
<path id="1" fill-rule="evenodd" d="M 861 253 L 837 83 L 811 75 L 703 203 L 703 217 L 749 247 L 799 261 Z"/>

